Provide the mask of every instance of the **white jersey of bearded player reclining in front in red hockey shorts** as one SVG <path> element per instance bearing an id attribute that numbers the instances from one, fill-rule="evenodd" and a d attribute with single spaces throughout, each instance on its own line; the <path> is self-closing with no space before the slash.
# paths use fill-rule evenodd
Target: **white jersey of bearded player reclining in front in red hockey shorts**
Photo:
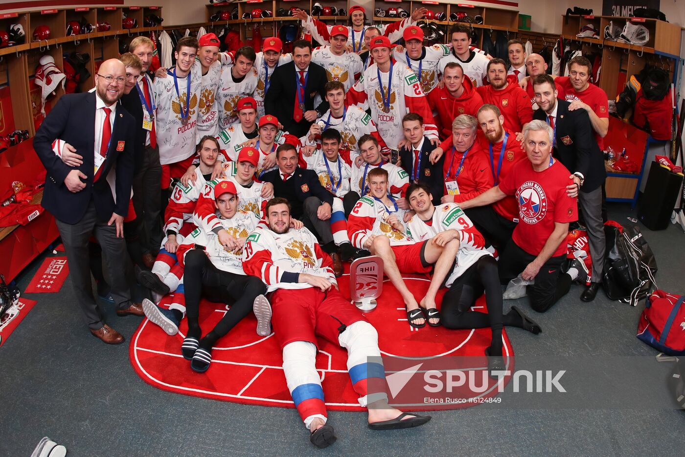
<path id="1" fill-rule="evenodd" d="M 314 274 L 337 284 L 331 258 L 323 253 L 316 237 L 306 227 L 280 235 L 258 227 L 247 237 L 242 265 L 247 274 L 262 279 L 269 292 L 312 287 L 297 283 L 299 273 Z"/>

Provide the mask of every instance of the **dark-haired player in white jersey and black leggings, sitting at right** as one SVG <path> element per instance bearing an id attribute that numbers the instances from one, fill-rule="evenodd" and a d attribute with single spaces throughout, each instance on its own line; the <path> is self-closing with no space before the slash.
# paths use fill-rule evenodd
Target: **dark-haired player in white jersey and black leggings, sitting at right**
<path id="1" fill-rule="evenodd" d="M 416 214 L 407 222 L 408 235 L 416 240 L 431 240 L 434 244 L 456 243 L 458 251 L 453 256 L 454 266 L 445 285 L 449 290 L 443 296 L 442 323 L 448 329 L 479 329 L 490 327 L 493 338 L 488 355 L 488 369 L 504 369 L 502 358 L 502 327 L 520 327 L 531 333 L 540 333 L 540 326 L 528 318 L 521 309 L 513 306 L 502 316 L 502 294 L 497 274 L 497 261 L 485 249 L 483 235 L 477 231 L 469 217 L 456 203 L 444 203 L 435 207 L 428 187 L 423 183 L 412 184 L 407 198 Z M 455 259 L 456 257 L 456 259 Z M 428 288 L 422 305 L 435 306 L 438 288 Z M 472 311 L 475 300 L 485 292 L 487 314 Z"/>

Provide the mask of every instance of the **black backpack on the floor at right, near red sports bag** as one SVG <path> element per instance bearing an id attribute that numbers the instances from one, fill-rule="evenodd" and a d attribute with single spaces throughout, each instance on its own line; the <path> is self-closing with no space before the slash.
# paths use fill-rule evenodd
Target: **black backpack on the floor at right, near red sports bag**
<path id="1" fill-rule="evenodd" d="M 604 226 L 606 262 L 602 272 L 604 292 L 610 300 L 636 306 L 656 289 L 656 259 L 637 226 Z"/>

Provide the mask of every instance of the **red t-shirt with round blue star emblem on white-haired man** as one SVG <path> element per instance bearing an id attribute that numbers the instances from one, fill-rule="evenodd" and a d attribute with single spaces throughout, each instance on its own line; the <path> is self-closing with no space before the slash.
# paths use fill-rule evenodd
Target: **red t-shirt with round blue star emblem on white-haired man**
<path id="1" fill-rule="evenodd" d="M 499 183 L 499 189 L 515 195 L 519 204 L 519 224 L 512 240 L 530 255 L 540 254 L 555 222 L 565 224 L 578 219 L 576 199 L 566 194 L 566 186 L 573 182 L 570 175 L 560 161 L 536 172 L 526 160 L 516 163 L 512 173 Z M 561 242 L 552 257 L 566 254 L 566 249 L 566 243 Z"/>

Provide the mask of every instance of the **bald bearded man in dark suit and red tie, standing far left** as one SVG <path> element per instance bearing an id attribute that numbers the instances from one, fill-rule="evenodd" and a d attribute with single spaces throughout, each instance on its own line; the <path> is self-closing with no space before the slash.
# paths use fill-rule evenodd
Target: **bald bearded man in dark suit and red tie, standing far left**
<path id="1" fill-rule="evenodd" d="M 34 149 L 47 169 L 42 206 L 57 221 L 76 300 L 90 333 L 108 344 L 119 344 L 124 338 L 104 323 L 104 313 L 92 296 L 88 261 L 91 235 L 107 259 L 116 314 L 143 315 L 140 304 L 131 300 L 124 268 L 123 220 L 131 198 L 136 129 L 133 117 L 117 103 L 124 92 L 125 75 L 119 60 L 103 62 L 95 76 L 95 92 L 60 98 L 34 138 Z M 83 157 L 82 164 L 70 167 L 63 163 L 52 150 L 55 139 L 71 144 Z M 106 178 L 114 166 L 112 188 Z"/>

